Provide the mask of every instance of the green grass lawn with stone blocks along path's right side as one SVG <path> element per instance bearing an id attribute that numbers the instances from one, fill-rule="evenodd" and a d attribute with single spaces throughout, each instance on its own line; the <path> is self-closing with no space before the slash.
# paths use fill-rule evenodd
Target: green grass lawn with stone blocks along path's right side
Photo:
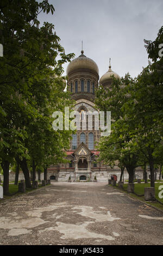
<path id="1" fill-rule="evenodd" d="M 160 192 L 159 186 L 161 186 L 161 185 L 163 186 L 162 182 L 155 183 L 155 198 L 158 199 L 163 204 L 163 198 L 161 199 L 161 198 L 158 197 L 159 192 Z M 110 186 L 112 186 L 112 185 L 110 185 Z M 124 184 L 123 185 L 124 190 L 122 190 L 122 191 L 125 191 L 126 193 L 128 193 L 127 192 L 127 186 L 128 186 L 128 184 Z M 146 184 L 145 183 L 141 183 L 141 184 L 135 183 L 134 191 L 135 191 L 136 194 L 142 195 L 142 194 L 144 194 L 144 188 L 145 187 L 150 187 L 150 186 L 151 186 L 150 183 L 146 183 Z M 120 188 L 118 188 L 118 190 L 120 190 Z M 136 194 L 133 194 L 133 193 L 128 193 L 128 194 L 131 197 L 137 198 L 137 199 L 139 199 L 141 201 L 146 202 L 147 204 L 153 205 L 156 208 L 159 208 L 159 209 L 163 210 L 163 205 L 160 204 L 159 202 L 156 202 L 156 201 L 154 201 L 154 202 L 152 202 L 152 201 L 145 201 L 144 197 L 136 196 Z"/>

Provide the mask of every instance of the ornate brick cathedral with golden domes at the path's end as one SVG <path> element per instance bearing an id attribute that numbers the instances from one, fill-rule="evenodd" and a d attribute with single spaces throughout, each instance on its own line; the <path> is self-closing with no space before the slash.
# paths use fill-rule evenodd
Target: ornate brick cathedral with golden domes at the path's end
<path id="1" fill-rule="evenodd" d="M 121 79 L 109 66 L 99 80 L 99 70 L 97 64 L 84 55 L 84 51 L 78 58 L 75 58 L 67 66 L 67 89 L 71 92 L 71 97 L 76 101 L 74 110 L 80 113 L 80 118 L 85 118 L 82 112 L 96 111 L 95 109 L 95 90 L 99 84 L 104 88 L 109 88 L 112 83 L 112 75 Z M 81 128 L 82 129 L 82 128 Z M 72 135 L 70 149 L 66 151 L 68 163 L 60 163 L 57 166 L 48 168 L 48 179 L 56 181 L 101 181 L 107 182 L 111 174 L 120 179 L 121 170 L 106 166 L 103 162 L 98 162 L 98 145 L 101 131 L 95 129 L 95 119 L 92 122 L 92 130 L 86 126 L 85 130 L 77 130 Z M 124 172 L 124 178 L 128 178 Z"/>

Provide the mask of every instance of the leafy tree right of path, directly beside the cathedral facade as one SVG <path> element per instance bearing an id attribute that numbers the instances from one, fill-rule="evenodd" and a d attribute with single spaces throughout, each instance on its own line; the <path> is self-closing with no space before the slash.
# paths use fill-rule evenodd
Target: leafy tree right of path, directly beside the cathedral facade
<path id="1" fill-rule="evenodd" d="M 135 86 L 133 78 L 127 74 L 121 81 L 113 79 L 111 89 L 99 88 L 96 106 L 101 111 L 111 111 L 111 135 L 101 138 L 99 143 L 100 159 L 105 162 L 118 160 L 120 166 L 126 167 L 129 182 L 134 181 L 135 168 L 140 166 L 140 150 L 131 147 L 134 136 L 134 121 L 128 120 L 123 109 L 124 103 L 130 100 L 130 91 Z M 122 175 L 121 175 L 122 176 Z"/>

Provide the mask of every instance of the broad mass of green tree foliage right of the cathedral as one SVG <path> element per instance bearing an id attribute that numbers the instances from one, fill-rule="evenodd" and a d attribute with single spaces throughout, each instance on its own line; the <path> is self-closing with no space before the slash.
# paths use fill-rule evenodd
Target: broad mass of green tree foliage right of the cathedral
<path id="1" fill-rule="evenodd" d="M 97 90 L 96 106 L 111 111 L 111 135 L 99 143 L 99 160 L 111 167 L 115 162 L 129 173 L 136 166 L 149 163 L 151 185 L 154 186 L 154 164 L 162 164 L 163 155 L 163 58 L 159 57 L 163 27 L 155 41 L 147 41 L 147 68 L 133 80 L 127 74 L 121 81 L 113 80 L 111 89 Z M 159 58 L 159 60 L 158 60 Z"/>

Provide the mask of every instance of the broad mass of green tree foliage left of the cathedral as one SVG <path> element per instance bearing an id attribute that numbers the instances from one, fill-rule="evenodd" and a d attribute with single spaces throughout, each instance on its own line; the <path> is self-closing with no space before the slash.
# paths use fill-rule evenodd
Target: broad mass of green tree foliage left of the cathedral
<path id="1" fill-rule="evenodd" d="M 62 64 L 74 54 L 65 54 L 52 23 L 40 27 L 39 13 L 54 12 L 48 1 L 2 0 L 0 9 L 0 159 L 48 167 L 69 146 L 71 132 L 54 131 L 52 114 L 73 106 Z"/>

